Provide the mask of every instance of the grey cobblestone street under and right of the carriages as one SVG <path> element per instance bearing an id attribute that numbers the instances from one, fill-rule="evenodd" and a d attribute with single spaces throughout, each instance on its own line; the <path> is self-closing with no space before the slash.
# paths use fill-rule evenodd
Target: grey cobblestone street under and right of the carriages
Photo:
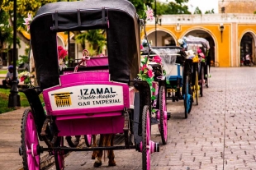
<path id="1" fill-rule="evenodd" d="M 210 87 L 187 119 L 183 101 L 168 101 L 168 144 L 151 155 L 151 169 L 256 169 L 255 72 L 256 67 L 211 68 Z M 157 126 L 151 138 L 160 142 Z M 91 152 L 73 152 L 65 159 L 65 170 L 141 169 L 141 153 L 115 154 L 116 167 L 107 167 L 106 158 L 102 168 L 93 168 Z"/>

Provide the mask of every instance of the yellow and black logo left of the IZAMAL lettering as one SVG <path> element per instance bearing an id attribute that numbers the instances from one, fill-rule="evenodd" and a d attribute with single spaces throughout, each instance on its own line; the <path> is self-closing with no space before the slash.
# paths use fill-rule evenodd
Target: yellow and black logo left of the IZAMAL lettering
<path id="1" fill-rule="evenodd" d="M 72 105 L 70 94 L 73 94 L 73 93 L 63 92 L 58 94 L 52 94 L 52 95 L 55 95 L 55 103 L 57 108 L 69 107 Z"/>

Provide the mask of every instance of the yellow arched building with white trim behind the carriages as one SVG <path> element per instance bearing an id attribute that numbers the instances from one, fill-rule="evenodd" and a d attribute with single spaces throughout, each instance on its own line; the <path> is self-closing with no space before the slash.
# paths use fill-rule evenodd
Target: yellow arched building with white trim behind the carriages
<path id="1" fill-rule="evenodd" d="M 207 39 L 211 60 L 220 67 L 239 67 L 247 53 L 256 59 L 254 14 L 164 15 L 157 25 L 147 21 L 146 32 L 153 46 L 178 45 L 188 35 Z"/>

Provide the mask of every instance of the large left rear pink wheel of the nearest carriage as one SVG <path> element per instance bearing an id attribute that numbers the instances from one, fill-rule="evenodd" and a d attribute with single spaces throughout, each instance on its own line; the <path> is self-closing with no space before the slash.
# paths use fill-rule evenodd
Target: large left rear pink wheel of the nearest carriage
<path id="1" fill-rule="evenodd" d="M 26 109 L 21 120 L 21 154 L 25 170 L 40 169 L 40 154 L 36 152 L 38 145 L 34 116 L 30 109 Z"/>

